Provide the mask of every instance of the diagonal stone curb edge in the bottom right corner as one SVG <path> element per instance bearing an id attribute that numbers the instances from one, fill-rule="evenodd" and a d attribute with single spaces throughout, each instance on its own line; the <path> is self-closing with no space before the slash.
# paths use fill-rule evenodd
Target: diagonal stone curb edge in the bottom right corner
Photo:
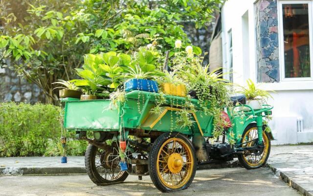
<path id="1" fill-rule="evenodd" d="M 288 183 L 290 187 L 299 191 L 304 196 L 313 196 L 313 191 L 306 190 L 301 184 L 295 182 L 295 179 L 289 177 L 286 173 L 281 172 L 280 170 L 274 168 L 270 164 L 267 164 L 268 168 L 273 171 L 281 180 Z"/>

